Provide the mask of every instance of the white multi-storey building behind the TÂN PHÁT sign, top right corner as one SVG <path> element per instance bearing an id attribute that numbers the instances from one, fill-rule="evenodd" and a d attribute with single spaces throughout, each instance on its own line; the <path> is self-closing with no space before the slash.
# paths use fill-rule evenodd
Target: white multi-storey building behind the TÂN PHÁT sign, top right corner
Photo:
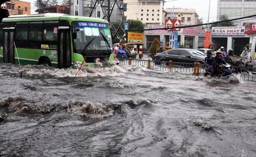
<path id="1" fill-rule="evenodd" d="M 218 0 L 217 21 L 219 16 L 226 14 L 229 19 L 241 18 L 256 14 L 256 0 Z M 256 19 L 234 22 L 237 26 L 256 24 Z"/>

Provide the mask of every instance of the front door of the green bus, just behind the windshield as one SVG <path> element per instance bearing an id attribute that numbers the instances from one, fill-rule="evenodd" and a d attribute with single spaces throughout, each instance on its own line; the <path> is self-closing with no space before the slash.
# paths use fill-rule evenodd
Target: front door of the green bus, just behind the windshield
<path id="1" fill-rule="evenodd" d="M 58 27 L 58 68 L 71 66 L 70 50 L 70 29 L 69 27 Z"/>

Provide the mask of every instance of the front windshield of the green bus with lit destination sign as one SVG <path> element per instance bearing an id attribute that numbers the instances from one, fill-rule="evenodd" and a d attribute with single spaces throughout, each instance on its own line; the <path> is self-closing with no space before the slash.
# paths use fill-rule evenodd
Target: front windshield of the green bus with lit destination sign
<path id="1" fill-rule="evenodd" d="M 106 23 L 73 21 L 77 31 L 74 52 L 83 56 L 109 56 L 112 49 L 111 33 Z M 84 50 L 84 48 L 86 48 Z"/>

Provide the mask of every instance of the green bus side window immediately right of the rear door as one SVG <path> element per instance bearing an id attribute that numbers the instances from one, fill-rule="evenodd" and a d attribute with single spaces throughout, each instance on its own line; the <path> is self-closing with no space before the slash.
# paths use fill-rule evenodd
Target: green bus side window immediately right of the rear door
<path id="1" fill-rule="evenodd" d="M 28 31 L 27 31 L 28 22 L 17 23 L 15 28 L 15 44 L 17 47 L 28 47 Z"/>

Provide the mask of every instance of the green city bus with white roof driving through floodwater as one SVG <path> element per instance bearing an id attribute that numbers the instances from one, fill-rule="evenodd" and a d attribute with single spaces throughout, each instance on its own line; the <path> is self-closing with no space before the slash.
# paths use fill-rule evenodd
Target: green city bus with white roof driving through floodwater
<path id="1" fill-rule="evenodd" d="M 114 61 L 108 21 L 61 13 L 12 15 L 0 24 L 0 63 L 56 68 Z M 18 61 L 19 59 L 19 61 Z"/>

